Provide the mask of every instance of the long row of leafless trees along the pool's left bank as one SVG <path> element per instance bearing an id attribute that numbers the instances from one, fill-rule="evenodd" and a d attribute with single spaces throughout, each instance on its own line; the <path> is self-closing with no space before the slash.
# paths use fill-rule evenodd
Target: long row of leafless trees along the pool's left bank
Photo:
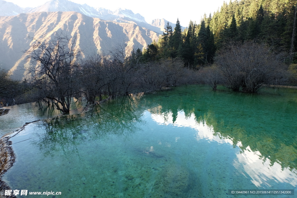
<path id="1" fill-rule="evenodd" d="M 48 105 L 52 102 L 64 113 L 69 112 L 73 96 L 83 94 L 89 104 L 94 104 L 97 96 L 101 100 L 102 95 L 127 95 L 176 85 L 186 72 L 180 58 L 140 63 L 141 57 L 125 44 L 108 55 L 94 53 L 79 61 L 75 42 L 76 36 L 56 33 L 44 42 L 35 39 L 32 50 L 26 52 L 37 99 Z"/>

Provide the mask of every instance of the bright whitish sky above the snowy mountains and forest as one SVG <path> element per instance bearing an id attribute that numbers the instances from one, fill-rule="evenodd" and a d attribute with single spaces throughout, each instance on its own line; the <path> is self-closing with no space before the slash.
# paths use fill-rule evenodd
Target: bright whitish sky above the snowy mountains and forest
<path id="1" fill-rule="evenodd" d="M 20 7 L 37 7 L 44 4 L 48 0 L 6 0 L 17 4 Z M 139 13 L 144 16 L 146 22 L 150 23 L 155 18 L 165 18 L 172 23 L 176 23 L 178 18 L 182 26 L 188 26 L 190 19 L 192 21 L 200 22 L 201 17 L 206 13 L 213 14 L 223 4 L 223 0 L 196 0 L 196 1 L 94 1 L 94 0 L 71 0 L 79 4 L 88 4 L 92 7 L 103 7 L 110 10 L 117 8 L 131 9 L 134 13 Z"/>

